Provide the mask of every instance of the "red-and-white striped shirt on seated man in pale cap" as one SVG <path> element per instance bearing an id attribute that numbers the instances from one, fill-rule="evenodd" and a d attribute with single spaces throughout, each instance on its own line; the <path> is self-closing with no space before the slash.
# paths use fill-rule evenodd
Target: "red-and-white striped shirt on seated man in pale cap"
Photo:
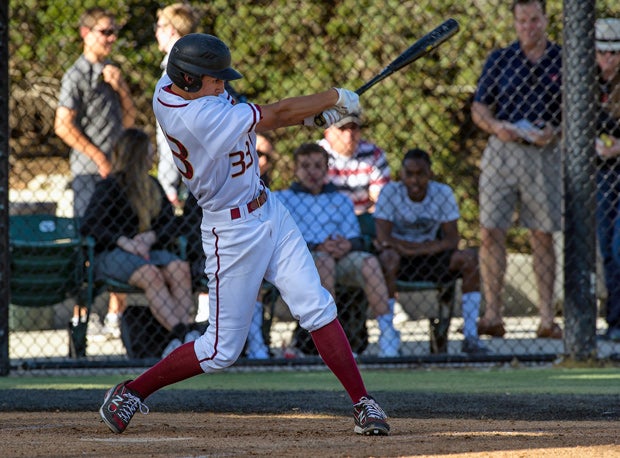
<path id="1" fill-rule="evenodd" d="M 385 151 L 361 140 L 355 154 L 348 157 L 334 151 L 326 139 L 318 143 L 329 153 L 329 181 L 351 198 L 357 214 L 366 212 L 373 204 L 369 191 L 378 192 L 390 181 Z"/>

